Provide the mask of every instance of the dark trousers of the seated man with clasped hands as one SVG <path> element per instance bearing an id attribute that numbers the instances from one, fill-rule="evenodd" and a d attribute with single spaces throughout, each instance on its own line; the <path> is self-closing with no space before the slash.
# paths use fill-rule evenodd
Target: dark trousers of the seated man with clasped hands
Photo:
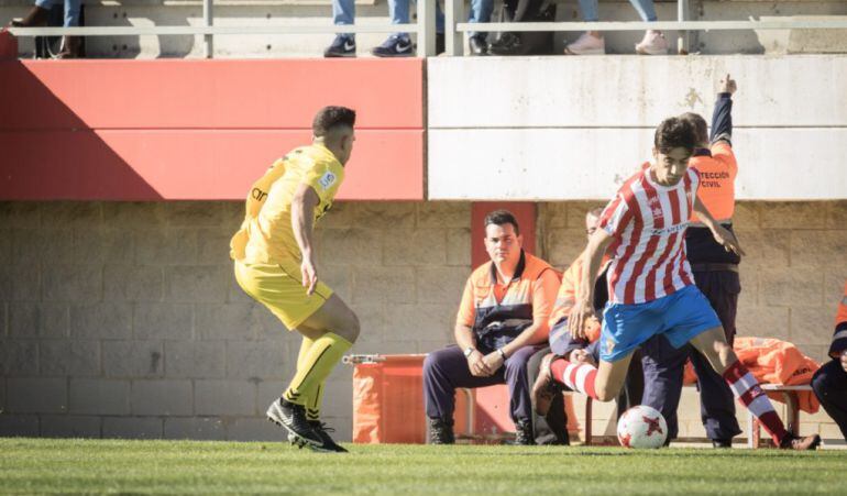
<path id="1" fill-rule="evenodd" d="M 506 359 L 499 370 L 490 377 L 471 375 L 468 359 L 459 346 L 449 346 L 432 352 L 424 361 L 424 407 L 427 417 L 453 420 L 455 410 L 455 389 L 460 387 L 485 387 L 494 384 L 507 384 L 509 388 L 509 414 L 512 420 L 529 421 L 532 418 L 532 405 L 527 376 L 527 363 L 541 345 L 524 346 Z"/>

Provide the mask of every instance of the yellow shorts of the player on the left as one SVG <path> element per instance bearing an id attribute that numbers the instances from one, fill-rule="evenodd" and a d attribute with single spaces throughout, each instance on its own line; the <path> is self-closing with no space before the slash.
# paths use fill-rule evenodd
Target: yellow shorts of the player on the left
<path id="1" fill-rule="evenodd" d="M 318 280 L 315 293 L 306 294 L 300 265 L 235 262 L 235 280 L 244 293 L 271 310 L 292 331 L 297 329 L 332 296 L 332 289 Z"/>

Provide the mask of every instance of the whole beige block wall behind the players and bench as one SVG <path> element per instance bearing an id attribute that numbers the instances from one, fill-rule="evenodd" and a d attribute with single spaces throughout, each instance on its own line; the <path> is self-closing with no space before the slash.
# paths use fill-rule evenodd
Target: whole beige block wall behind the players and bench
<path id="1" fill-rule="evenodd" d="M 542 203 L 539 252 L 566 266 L 594 205 Z M 235 202 L 0 203 L 0 436 L 279 439 L 263 412 L 299 343 L 234 284 L 227 245 L 241 216 Z M 740 333 L 820 360 L 847 278 L 847 201 L 740 203 L 736 217 L 750 253 Z M 353 352 L 452 341 L 470 218 L 470 203 L 344 202 L 321 221 L 321 275 L 362 320 Z M 339 366 L 324 399 L 340 439 L 350 379 Z M 683 432 L 696 433 L 696 398 L 683 407 Z"/>

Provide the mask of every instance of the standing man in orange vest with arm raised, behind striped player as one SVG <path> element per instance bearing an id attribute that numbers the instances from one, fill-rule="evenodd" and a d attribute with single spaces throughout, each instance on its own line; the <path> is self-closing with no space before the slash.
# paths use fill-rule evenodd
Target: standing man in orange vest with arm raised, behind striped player
<path id="1" fill-rule="evenodd" d="M 697 197 L 729 231 L 733 230 L 735 177 L 738 173 L 732 144 L 732 97 L 736 88 L 736 81 L 728 74 L 721 80 L 712 115 L 711 136 L 707 134 L 706 121 L 701 115 L 682 115 L 694 125 L 700 140 L 700 146 L 689 162 L 689 166 L 696 168 L 700 174 Z M 696 216 L 692 216 L 685 232 L 685 252 L 694 282 L 721 319 L 726 341 L 732 345 L 736 333 L 738 293 L 741 290 L 738 278 L 740 256 L 715 242 L 712 232 Z M 691 359 L 697 373 L 701 418 L 706 436 L 715 448 L 730 448 L 733 438 L 741 432 L 735 416 L 733 392 L 708 361 L 691 346 L 674 349 L 662 337 L 644 343 L 641 353 L 645 372 L 641 404 L 662 412 L 668 421 L 668 442 L 679 432 L 676 408 L 682 395 L 683 368 Z"/>

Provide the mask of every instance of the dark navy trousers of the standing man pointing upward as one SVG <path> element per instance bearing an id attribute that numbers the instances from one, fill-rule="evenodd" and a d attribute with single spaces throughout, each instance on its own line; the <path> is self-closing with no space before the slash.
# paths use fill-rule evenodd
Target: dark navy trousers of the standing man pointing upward
<path id="1" fill-rule="evenodd" d="M 694 279 L 721 319 L 727 342 L 732 345 L 740 293 L 738 273 L 695 272 Z M 728 440 L 741 433 L 735 417 L 733 392 L 702 354 L 690 345 L 676 350 L 663 335 L 656 335 L 644 343 L 641 353 L 645 373 L 641 404 L 662 412 L 668 422 L 668 439 L 673 439 L 679 433 L 676 408 L 682 396 L 682 376 L 689 357 L 697 373 L 700 415 L 708 439 Z"/>

